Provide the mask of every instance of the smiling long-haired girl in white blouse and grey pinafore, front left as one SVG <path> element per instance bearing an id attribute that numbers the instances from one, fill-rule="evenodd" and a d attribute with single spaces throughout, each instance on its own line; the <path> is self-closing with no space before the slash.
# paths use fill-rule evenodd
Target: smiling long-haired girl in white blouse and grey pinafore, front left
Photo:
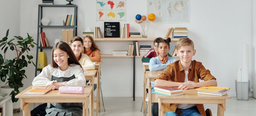
<path id="1" fill-rule="evenodd" d="M 54 45 L 52 64 L 43 68 L 32 85 L 52 90 L 61 86 L 86 86 L 82 67 L 67 43 L 61 41 Z M 46 116 L 81 116 L 82 103 L 49 103 L 46 113 Z"/>

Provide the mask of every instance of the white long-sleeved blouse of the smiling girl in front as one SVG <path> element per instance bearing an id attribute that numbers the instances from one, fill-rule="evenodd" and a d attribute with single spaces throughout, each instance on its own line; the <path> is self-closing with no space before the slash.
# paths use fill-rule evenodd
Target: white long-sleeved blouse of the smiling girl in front
<path id="1" fill-rule="evenodd" d="M 75 76 L 75 79 L 72 79 L 68 81 L 67 83 L 64 83 L 65 86 L 79 86 L 79 87 L 85 87 L 86 86 L 86 80 L 83 74 L 83 70 L 79 65 L 72 65 L 68 67 L 67 70 L 62 71 L 60 67 L 53 68 L 51 64 L 44 67 L 42 72 L 36 76 L 32 82 L 33 86 L 48 86 L 51 85 L 55 81 L 52 80 L 52 76 L 55 77 L 64 77 L 69 78 L 71 76 Z"/>

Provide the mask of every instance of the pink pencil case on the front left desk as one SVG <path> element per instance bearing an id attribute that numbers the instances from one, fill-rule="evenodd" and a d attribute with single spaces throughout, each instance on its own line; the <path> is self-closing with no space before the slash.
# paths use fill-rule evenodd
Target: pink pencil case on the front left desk
<path id="1" fill-rule="evenodd" d="M 70 86 L 62 86 L 59 87 L 60 93 L 74 93 L 74 94 L 83 94 L 84 87 L 70 87 Z"/>

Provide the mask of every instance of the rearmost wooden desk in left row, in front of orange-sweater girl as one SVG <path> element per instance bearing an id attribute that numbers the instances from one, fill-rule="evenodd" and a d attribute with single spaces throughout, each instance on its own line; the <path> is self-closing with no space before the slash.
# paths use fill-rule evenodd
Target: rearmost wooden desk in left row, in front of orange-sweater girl
<path id="1" fill-rule="evenodd" d="M 94 84 L 97 84 L 97 97 L 96 97 L 96 116 L 98 116 L 98 112 L 100 112 L 100 65 L 102 61 L 97 62 L 95 64 L 95 70 L 97 70 L 97 77 L 94 78 Z M 95 109 L 95 108 L 94 108 Z"/>

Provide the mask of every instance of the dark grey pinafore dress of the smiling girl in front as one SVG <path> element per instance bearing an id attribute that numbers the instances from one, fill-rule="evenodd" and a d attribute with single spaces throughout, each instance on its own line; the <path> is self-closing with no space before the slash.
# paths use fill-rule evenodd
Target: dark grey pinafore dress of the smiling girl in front
<path id="1" fill-rule="evenodd" d="M 52 76 L 52 81 L 57 82 L 72 79 L 75 79 L 74 75 L 69 78 Z M 82 113 L 82 103 L 49 103 L 46 107 L 46 116 L 81 116 Z"/>

